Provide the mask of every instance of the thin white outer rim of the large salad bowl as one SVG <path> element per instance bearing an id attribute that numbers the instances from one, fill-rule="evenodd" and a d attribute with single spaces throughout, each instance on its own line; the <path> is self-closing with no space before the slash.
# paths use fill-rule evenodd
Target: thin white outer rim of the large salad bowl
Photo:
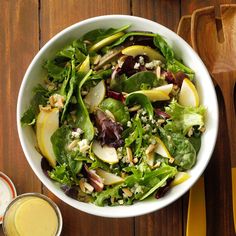
<path id="1" fill-rule="evenodd" d="M 47 48 L 53 43 L 55 42 L 56 40 L 58 40 L 59 38 L 61 38 L 63 35 L 66 35 L 68 32 L 78 28 L 78 27 L 81 27 L 83 25 L 87 25 L 87 24 L 90 24 L 90 23 L 93 23 L 95 21 L 102 21 L 102 20 L 109 20 L 111 19 L 114 20 L 114 19 L 120 19 L 120 18 L 125 18 L 127 20 L 133 20 L 133 21 L 142 21 L 144 22 L 145 24 L 155 24 L 157 29 L 158 30 L 164 30 L 164 31 L 167 31 L 169 34 L 172 34 L 173 35 L 173 38 L 177 38 L 178 41 L 179 41 L 179 44 L 183 44 L 183 47 L 185 47 L 186 49 L 190 50 L 191 53 L 194 55 L 194 57 L 198 60 L 198 63 L 201 65 L 202 69 L 204 70 L 205 73 L 208 73 L 204 63 L 202 62 L 202 60 L 200 59 L 200 57 L 197 55 L 197 53 L 189 46 L 189 44 L 184 40 L 182 39 L 179 35 L 177 35 L 175 32 L 173 32 L 172 30 L 168 29 L 167 27 L 155 22 L 155 21 L 152 21 L 152 20 L 148 20 L 148 19 L 145 19 L 145 18 L 142 18 L 142 17 L 138 17 L 138 16 L 130 16 L 130 15 L 120 15 L 120 14 L 114 14 L 114 15 L 101 15 L 101 16 L 96 16 L 96 17 L 92 17 L 92 18 L 88 18 L 88 19 L 85 19 L 85 20 L 82 20 L 80 22 L 77 22 L 65 29 L 63 29 L 62 31 L 60 31 L 59 33 L 57 33 L 55 36 L 53 36 L 47 43 L 45 43 L 45 45 L 37 52 L 37 54 L 35 55 L 35 57 L 33 58 L 33 60 L 31 61 L 30 65 L 28 66 L 26 72 L 25 72 L 25 75 L 23 77 L 23 80 L 22 80 L 22 83 L 21 83 L 21 86 L 20 86 L 20 90 L 19 90 L 19 94 L 18 94 L 18 99 L 17 99 L 17 112 L 16 112 L 16 115 L 17 115 L 17 131 L 18 131 L 18 135 L 19 135 L 19 139 L 20 139 L 20 143 L 21 143 L 21 146 L 22 146 L 22 149 L 23 149 L 23 152 L 24 152 L 24 155 L 26 156 L 26 159 L 28 161 L 28 163 L 30 164 L 30 167 L 33 169 L 34 173 L 36 174 L 36 176 L 39 178 L 39 180 L 53 193 L 55 194 L 58 198 L 60 198 L 63 202 L 67 203 L 68 205 L 78 209 L 78 210 L 81 210 L 83 212 L 86 212 L 86 213 L 89 213 L 89 214 L 92 214 L 92 215 L 97 215 L 97 216 L 102 216 L 102 217 L 110 217 L 110 218 L 123 218 L 123 217 L 134 217 L 134 216 L 139 216 L 139 215 L 144 215 L 144 214 L 148 214 L 148 213 L 151 213 L 151 212 L 154 212 L 156 210 L 159 210 L 159 209 L 162 209 L 164 207 L 166 207 L 167 205 L 170 205 L 171 203 L 173 203 L 174 201 L 176 201 L 177 199 L 179 199 L 181 196 L 183 196 L 193 185 L 194 183 L 199 179 L 199 177 L 202 175 L 202 173 L 204 172 L 204 170 L 206 169 L 210 159 L 211 159 L 211 156 L 212 156 L 212 153 L 213 153 L 213 150 L 214 150 L 214 147 L 215 147 L 215 144 L 216 144 L 216 140 L 217 140 L 217 133 L 218 133 L 218 125 L 219 125 L 219 109 L 218 109 L 218 103 L 217 103 L 217 97 L 216 97 L 216 92 L 214 90 L 214 101 L 215 101 L 215 104 L 214 104 L 214 108 L 215 108 L 215 125 L 216 125 L 216 129 L 214 130 L 213 132 L 213 141 L 212 141 L 212 147 L 210 149 L 210 155 L 209 155 L 209 158 L 207 159 L 207 161 L 205 161 L 205 164 L 203 165 L 202 169 L 197 173 L 195 174 L 194 176 L 191 177 L 191 180 L 188 184 L 188 187 L 186 187 L 184 190 L 182 191 L 179 191 L 179 192 L 176 192 L 169 201 L 166 201 L 162 204 L 161 207 L 156 207 L 156 208 L 152 208 L 152 209 L 145 209 L 144 207 L 142 207 L 142 209 L 136 209 L 135 208 L 135 211 L 121 211 L 121 212 L 116 212 L 115 213 L 115 208 L 116 207 L 111 207 L 112 209 L 114 209 L 113 211 L 109 211 L 109 212 L 106 212 L 106 211 L 103 211 L 102 209 L 104 209 L 104 207 L 97 207 L 93 204 L 94 206 L 94 209 L 95 208 L 98 208 L 96 210 L 88 210 L 86 208 L 86 206 L 77 206 L 76 203 L 73 203 L 72 201 L 69 201 L 67 198 L 68 196 L 64 195 L 62 196 L 62 192 L 56 188 L 51 188 L 51 186 L 49 186 L 48 183 L 46 183 L 44 181 L 44 178 L 41 176 L 41 174 L 39 173 L 39 171 L 37 170 L 37 168 L 34 167 L 33 165 L 33 162 L 30 158 L 30 154 L 28 153 L 28 150 L 27 150 L 27 147 L 25 145 L 25 142 L 24 142 L 24 139 L 23 139 L 23 130 L 22 130 L 22 127 L 21 127 L 21 123 L 20 123 L 20 117 L 21 117 L 21 110 L 20 110 L 20 105 L 21 105 L 21 101 L 22 101 L 22 97 L 23 97 L 23 92 L 24 92 L 24 89 L 26 87 L 26 84 L 28 82 L 28 79 L 29 78 L 29 74 L 32 70 L 32 68 L 34 67 L 34 64 L 35 62 L 38 61 L 38 59 L 45 53 L 45 51 L 47 50 Z M 209 78 L 210 78 L 210 75 L 209 75 Z M 213 82 L 211 81 L 211 79 L 209 79 L 209 83 L 211 84 L 212 88 L 214 88 L 214 85 L 213 85 Z M 64 193 L 63 193 L 64 194 Z M 76 201 L 76 202 L 79 202 L 79 201 Z M 81 203 L 81 202 L 80 202 Z M 86 203 L 88 205 L 88 203 Z M 134 204 L 132 205 L 133 206 L 137 206 L 137 208 L 140 208 L 139 205 Z M 130 206 L 125 206 L 125 208 L 127 207 L 130 207 Z"/>

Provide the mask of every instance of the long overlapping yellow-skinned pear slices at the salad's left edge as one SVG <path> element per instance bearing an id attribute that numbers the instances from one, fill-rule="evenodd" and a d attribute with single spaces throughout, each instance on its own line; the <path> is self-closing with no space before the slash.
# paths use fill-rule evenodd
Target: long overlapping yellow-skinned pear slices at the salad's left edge
<path id="1" fill-rule="evenodd" d="M 39 149 L 52 167 L 56 166 L 56 156 L 51 143 L 52 134 L 59 128 L 59 109 L 41 109 L 36 120 L 36 138 Z"/>

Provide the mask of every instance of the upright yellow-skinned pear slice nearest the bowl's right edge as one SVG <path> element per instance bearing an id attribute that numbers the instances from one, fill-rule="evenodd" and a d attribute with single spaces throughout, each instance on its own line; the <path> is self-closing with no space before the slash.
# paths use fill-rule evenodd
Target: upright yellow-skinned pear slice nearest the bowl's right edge
<path id="1" fill-rule="evenodd" d="M 183 80 L 179 92 L 179 104 L 182 106 L 199 106 L 199 96 L 194 84 L 187 78 Z"/>

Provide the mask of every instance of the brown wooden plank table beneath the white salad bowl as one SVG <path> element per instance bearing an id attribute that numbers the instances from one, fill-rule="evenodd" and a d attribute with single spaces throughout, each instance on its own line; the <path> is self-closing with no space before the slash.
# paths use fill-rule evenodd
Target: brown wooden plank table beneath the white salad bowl
<path id="1" fill-rule="evenodd" d="M 0 170 L 18 194 L 42 192 L 60 207 L 62 235 L 185 235 L 188 194 L 155 213 L 126 219 L 88 215 L 53 196 L 37 179 L 22 152 L 16 130 L 16 103 L 23 75 L 38 50 L 56 33 L 83 19 L 104 14 L 142 16 L 176 31 L 182 15 L 215 2 L 235 0 L 0 0 Z M 220 106 L 218 140 L 205 171 L 207 233 L 232 236 L 231 172 L 225 110 Z M 0 235 L 3 235 L 0 228 Z"/>

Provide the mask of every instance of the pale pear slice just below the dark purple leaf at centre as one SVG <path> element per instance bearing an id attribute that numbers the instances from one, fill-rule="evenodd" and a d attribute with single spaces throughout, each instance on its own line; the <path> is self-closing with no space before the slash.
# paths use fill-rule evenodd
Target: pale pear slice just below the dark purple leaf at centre
<path id="1" fill-rule="evenodd" d="M 115 164 L 119 162 L 116 149 L 113 147 L 109 147 L 107 145 L 102 147 L 98 141 L 94 141 L 92 145 L 92 151 L 100 160 L 106 163 Z"/>

